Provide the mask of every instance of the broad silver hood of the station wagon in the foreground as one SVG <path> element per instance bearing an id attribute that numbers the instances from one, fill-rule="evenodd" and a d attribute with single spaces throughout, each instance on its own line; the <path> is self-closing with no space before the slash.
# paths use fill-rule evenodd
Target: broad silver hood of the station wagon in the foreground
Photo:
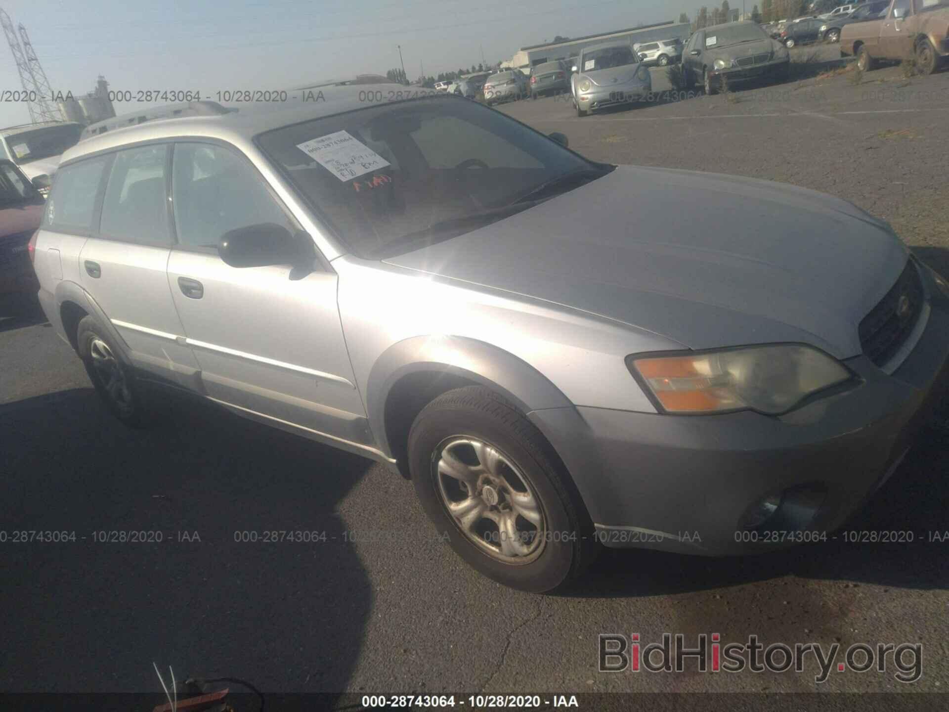
<path id="1" fill-rule="evenodd" d="M 907 250 L 845 200 L 754 178 L 620 166 L 472 233 L 386 260 L 547 300 L 689 348 L 804 342 L 857 326 Z"/>

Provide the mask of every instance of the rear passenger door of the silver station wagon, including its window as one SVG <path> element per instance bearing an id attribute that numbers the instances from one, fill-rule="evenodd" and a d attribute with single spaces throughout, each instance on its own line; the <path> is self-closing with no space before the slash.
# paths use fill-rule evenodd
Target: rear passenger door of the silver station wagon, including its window
<path id="1" fill-rule="evenodd" d="M 171 384 L 195 387 L 197 363 L 182 336 L 168 277 L 172 233 L 168 217 L 170 146 L 153 143 L 84 161 L 56 219 L 98 223 L 79 255 L 81 283 L 131 348 L 135 365 Z M 62 215 L 70 202 L 87 204 L 94 174 L 101 174 L 93 219 Z M 63 177 L 56 180 L 57 193 Z"/>

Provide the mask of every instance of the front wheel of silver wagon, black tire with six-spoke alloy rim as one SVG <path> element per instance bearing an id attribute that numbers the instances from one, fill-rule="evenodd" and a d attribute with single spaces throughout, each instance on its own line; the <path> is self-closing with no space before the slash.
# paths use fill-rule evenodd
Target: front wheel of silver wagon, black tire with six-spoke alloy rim
<path id="1" fill-rule="evenodd" d="M 426 405 L 408 460 L 438 533 L 498 583 L 535 593 L 563 587 L 599 548 L 548 441 L 488 388 L 456 388 Z"/>

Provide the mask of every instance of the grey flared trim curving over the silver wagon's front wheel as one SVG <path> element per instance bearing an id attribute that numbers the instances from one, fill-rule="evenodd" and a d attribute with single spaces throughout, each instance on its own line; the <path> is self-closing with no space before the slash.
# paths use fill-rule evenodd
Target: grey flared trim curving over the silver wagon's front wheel
<path id="1" fill-rule="evenodd" d="M 540 371 L 502 348 L 459 336 L 414 336 L 382 352 L 366 381 L 369 424 L 386 455 L 392 455 L 385 428 L 386 400 L 393 385 L 421 371 L 452 374 L 487 385 L 525 414 L 572 406 L 567 396 Z"/>

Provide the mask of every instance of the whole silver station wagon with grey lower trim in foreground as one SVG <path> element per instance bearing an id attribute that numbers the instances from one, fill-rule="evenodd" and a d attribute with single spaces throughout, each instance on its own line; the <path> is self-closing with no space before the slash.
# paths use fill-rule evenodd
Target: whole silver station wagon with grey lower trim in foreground
<path id="1" fill-rule="evenodd" d="M 949 287 L 887 224 L 370 88 L 65 154 L 39 298 L 121 422 L 164 385 L 387 463 L 533 591 L 603 545 L 808 540 L 894 472 L 944 392 Z"/>

